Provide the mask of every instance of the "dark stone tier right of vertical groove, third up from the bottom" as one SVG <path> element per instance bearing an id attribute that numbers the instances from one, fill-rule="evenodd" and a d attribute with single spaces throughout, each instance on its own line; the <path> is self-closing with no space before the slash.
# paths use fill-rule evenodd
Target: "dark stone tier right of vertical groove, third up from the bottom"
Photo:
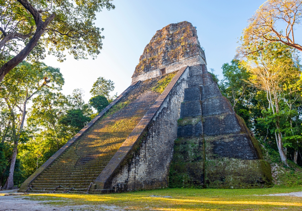
<path id="1" fill-rule="evenodd" d="M 205 135 L 214 136 L 239 134 L 245 132 L 245 128 L 237 119 L 236 114 L 232 113 L 203 118 L 203 131 Z"/>

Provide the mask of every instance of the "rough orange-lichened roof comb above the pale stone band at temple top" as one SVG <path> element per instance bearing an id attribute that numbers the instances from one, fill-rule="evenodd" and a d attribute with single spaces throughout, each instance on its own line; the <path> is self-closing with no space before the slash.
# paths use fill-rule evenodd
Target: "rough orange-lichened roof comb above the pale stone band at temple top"
<path id="1" fill-rule="evenodd" d="M 197 31 L 192 24 L 188 21 L 169 24 L 158 30 L 145 47 L 132 77 L 196 55 L 205 60 Z"/>

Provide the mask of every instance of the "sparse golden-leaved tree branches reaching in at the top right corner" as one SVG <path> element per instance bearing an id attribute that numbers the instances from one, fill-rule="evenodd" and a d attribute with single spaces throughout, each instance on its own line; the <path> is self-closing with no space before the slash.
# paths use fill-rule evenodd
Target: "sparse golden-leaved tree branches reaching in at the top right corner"
<path id="1" fill-rule="evenodd" d="M 266 1 L 249 19 L 249 25 L 243 30 L 243 44 L 238 49 L 239 53 L 248 55 L 273 42 L 280 42 L 302 51 L 302 46 L 295 41 L 297 34 L 294 33 L 301 20 L 301 0 Z"/>

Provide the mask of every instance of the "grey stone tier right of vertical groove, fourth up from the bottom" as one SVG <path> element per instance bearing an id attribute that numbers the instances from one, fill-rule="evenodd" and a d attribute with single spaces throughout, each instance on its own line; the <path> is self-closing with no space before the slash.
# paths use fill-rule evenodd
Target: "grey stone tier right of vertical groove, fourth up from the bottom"
<path id="1" fill-rule="evenodd" d="M 234 113 L 233 107 L 226 97 L 215 97 L 201 101 L 202 116 L 214 116 Z"/>

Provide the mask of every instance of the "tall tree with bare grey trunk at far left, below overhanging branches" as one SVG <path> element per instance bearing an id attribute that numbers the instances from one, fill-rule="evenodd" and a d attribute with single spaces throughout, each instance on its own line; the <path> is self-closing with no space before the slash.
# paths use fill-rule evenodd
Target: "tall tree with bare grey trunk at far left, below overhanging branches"
<path id="1" fill-rule="evenodd" d="M 47 77 L 52 80 L 49 85 L 50 81 Z M 14 187 L 14 166 L 18 153 L 18 142 L 24 128 L 27 102 L 35 95 L 48 89 L 59 90 L 63 84 L 64 80 L 58 68 L 47 67 L 43 63 L 31 65 L 27 62 L 22 62 L 10 71 L 0 83 L 0 97 L 5 101 L 10 114 L 9 127 L 12 133 L 11 141 L 14 143 L 9 176 L 3 187 L 4 189 L 12 189 Z"/>

